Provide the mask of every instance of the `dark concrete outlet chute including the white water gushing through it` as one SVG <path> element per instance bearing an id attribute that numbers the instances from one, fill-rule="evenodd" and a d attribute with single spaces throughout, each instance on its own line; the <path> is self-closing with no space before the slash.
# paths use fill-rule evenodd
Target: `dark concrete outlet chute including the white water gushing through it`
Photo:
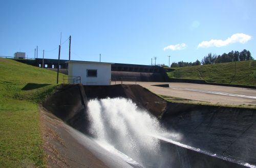
<path id="1" fill-rule="evenodd" d="M 255 109 L 171 103 L 139 85 L 61 85 L 42 106 L 105 167 L 256 165 Z"/>

